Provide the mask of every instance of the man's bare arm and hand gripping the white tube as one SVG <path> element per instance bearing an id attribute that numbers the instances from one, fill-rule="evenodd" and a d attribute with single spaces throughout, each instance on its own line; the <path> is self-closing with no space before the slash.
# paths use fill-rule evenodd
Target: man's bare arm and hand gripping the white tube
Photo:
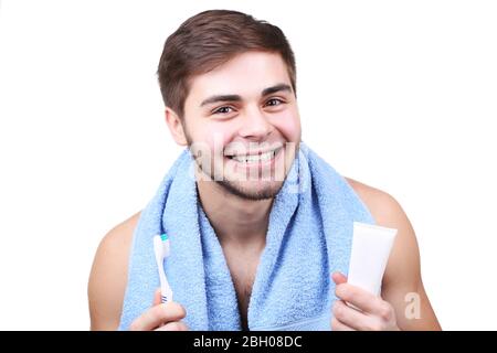
<path id="1" fill-rule="evenodd" d="M 346 279 L 338 275 L 334 276 L 337 296 L 364 311 L 360 313 L 343 301 L 337 301 L 332 325 L 336 329 L 362 330 L 441 330 L 423 287 L 417 242 L 404 211 L 391 195 L 357 181 L 348 181 L 377 223 L 399 232 L 383 277 L 381 298 L 347 285 Z"/>

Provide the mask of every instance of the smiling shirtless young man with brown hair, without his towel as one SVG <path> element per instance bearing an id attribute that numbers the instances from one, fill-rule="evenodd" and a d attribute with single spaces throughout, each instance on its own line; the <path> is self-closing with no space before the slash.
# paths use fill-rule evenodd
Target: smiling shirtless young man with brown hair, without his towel
<path id="1" fill-rule="evenodd" d="M 198 202 L 215 229 L 236 291 L 241 328 L 246 330 L 269 213 L 300 145 L 292 49 L 274 25 L 240 12 L 205 11 L 187 20 L 167 40 L 158 75 L 172 138 L 193 153 L 199 146 L 202 150 L 195 154 Z M 284 168 L 273 170 L 263 154 L 284 160 Z M 268 172 L 272 178 L 263 178 Z M 329 327 L 438 330 L 421 279 L 414 231 L 402 207 L 385 192 L 346 180 L 374 222 L 396 228 L 398 236 L 381 297 L 348 285 L 342 274 L 332 274 L 340 300 L 332 304 Z M 119 327 L 139 218 L 137 213 L 114 227 L 98 247 L 88 284 L 92 330 Z M 415 318 L 406 314 L 410 293 L 415 295 Z M 188 330 L 188 314 L 181 302 L 160 303 L 158 290 L 150 308 L 129 329 Z"/>

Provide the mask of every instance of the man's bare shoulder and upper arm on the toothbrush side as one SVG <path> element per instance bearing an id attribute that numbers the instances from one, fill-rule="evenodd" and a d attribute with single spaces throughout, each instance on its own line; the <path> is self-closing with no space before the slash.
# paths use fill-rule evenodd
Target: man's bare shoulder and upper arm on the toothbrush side
<path id="1" fill-rule="evenodd" d="M 98 245 L 88 280 L 91 330 L 116 330 L 119 325 L 129 252 L 139 216 L 138 212 L 116 225 Z"/>

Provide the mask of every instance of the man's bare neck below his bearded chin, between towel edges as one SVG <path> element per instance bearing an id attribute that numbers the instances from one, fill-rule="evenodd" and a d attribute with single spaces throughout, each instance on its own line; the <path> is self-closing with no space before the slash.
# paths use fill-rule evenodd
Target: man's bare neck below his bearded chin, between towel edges
<path id="1" fill-rule="evenodd" d="M 243 199 L 208 180 L 198 180 L 197 188 L 203 211 L 222 246 L 264 247 L 273 199 Z"/>

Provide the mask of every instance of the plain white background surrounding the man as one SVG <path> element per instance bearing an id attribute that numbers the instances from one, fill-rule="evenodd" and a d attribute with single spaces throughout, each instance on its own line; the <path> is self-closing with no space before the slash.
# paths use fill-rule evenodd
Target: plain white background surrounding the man
<path id="1" fill-rule="evenodd" d="M 304 140 L 404 207 L 442 327 L 497 329 L 497 6 L 454 0 L 2 1 L 0 329 L 88 329 L 101 238 L 180 151 L 163 42 L 214 8 L 286 33 Z"/>

